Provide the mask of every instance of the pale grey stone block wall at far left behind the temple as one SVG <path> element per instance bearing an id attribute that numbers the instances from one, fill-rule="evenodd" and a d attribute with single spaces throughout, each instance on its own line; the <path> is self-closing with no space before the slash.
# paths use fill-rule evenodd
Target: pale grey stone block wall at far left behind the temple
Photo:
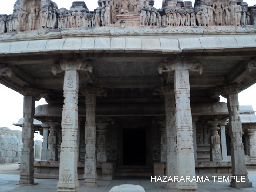
<path id="1" fill-rule="evenodd" d="M 0 128 L 0 164 L 19 162 L 21 148 L 21 131 Z"/>

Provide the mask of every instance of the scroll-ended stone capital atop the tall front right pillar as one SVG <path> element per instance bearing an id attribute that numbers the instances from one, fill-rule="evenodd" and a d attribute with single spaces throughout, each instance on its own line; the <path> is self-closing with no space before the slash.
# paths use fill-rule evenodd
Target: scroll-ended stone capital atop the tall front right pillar
<path id="1" fill-rule="evenodd" d="M 158 72 L 171 72 L 175 70 L 190 70 L 197 71 L 201 75 L 203 72 L 202 64 L 196 60 L 184 59 L 180 57 L 170 57 L 164 59 L 157 66 Z"/>

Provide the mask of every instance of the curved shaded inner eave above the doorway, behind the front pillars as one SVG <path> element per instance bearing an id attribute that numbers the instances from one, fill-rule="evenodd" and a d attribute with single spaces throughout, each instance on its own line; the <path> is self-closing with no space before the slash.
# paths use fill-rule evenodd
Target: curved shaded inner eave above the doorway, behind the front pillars
<path id="1" fill-rule="evenodd" d="M 85 116 L 83 105 L 78 105 L 79 116 Z M 61 104 L 39 105 L 35 117 L 61 117 Z M 192 115 L 228 115 L 227 103 L 192 103 Z M 164 116 L 164 103 L 101 103 L 96 107 L 96 116 Z"/>

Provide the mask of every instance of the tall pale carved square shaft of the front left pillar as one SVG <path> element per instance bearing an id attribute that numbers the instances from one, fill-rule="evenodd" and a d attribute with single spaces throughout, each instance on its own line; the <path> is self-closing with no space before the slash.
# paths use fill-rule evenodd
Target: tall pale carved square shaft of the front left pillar
<path id="1" fill-rule="evenodd" d="M 58 191 L 78 190 L 78 71 L 66 66 L 64 76 L 64 105 L 62 110 L 62 143 Z"/>

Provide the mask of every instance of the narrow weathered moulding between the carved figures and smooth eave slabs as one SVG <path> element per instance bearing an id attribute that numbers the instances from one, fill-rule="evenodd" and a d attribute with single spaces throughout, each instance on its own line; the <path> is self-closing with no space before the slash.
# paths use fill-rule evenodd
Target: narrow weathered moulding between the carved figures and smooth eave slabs
<path id="1" fill-rule="evenodd" d="M 123 37 L 123 36 L 184 36 L 196 35 L 198 37 L 205 35 L 223 36 L 223 35 L 245 35 L 256 34 L 256 27 L 234 27 L 212 26 L 204 27 L 166 27 L 160 26 L 153 28 L 152 26 L 130 27 L 128 29 L 119 29 L 118 27 L 95 27 L 94 29 L 40 29 L 31 32 L 10 32 L 0 34 L 0 42 L 20 41 L 20 40 L 42 40 L 42 39 L 61 39 L 65 37 Z"/>

